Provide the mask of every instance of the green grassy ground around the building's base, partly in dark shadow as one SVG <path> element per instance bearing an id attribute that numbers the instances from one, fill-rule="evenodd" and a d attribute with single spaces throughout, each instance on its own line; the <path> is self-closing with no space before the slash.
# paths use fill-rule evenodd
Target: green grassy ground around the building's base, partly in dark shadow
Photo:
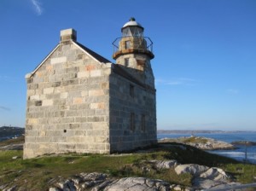
<path id="1" fill-rule="evenodd" d="M 253 182 L 256 165 L 244 165 L 178 143 L 161 143 L 150 153 L 121 155 L 63 154 L 23 160 L 22 151 L 0 151 L 0 185 L 17 185 L 23 190 L 47 190 L 58 177 L 68 178 L 80 172 L 103 172 L 111 177 L 149 177 L 183 186 L 191 185 L 191 176 L 178 176 L 174 169 L 157 170 L 150 159 L 177 159 L 181 164 L 217 166 L 230 172 L 238 182 Z M 13 157 L 17 156 L 17 159 Z"/>

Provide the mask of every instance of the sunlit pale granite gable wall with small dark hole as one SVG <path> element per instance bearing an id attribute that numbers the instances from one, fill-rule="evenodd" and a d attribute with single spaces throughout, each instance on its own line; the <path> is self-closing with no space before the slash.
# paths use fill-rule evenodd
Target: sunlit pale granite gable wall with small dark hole
<path id="1" fill-rule="evenodd" d="M 109 153 L 109 73 L 72 43 L 60 43 L 26 78 L 24 158 Z"/>

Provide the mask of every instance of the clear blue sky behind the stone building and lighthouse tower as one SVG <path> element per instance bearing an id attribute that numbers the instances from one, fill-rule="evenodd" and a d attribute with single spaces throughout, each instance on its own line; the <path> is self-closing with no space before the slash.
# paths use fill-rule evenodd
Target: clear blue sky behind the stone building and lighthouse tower
<path id="1" fill-rule="evenodd" d="M 25 75 L 61 30 L 113 61 L 131 17 L 154 42 L 159 130 L 256 130 L 255 0 L 0 0 L 0 126 L 25 126 Z"/>

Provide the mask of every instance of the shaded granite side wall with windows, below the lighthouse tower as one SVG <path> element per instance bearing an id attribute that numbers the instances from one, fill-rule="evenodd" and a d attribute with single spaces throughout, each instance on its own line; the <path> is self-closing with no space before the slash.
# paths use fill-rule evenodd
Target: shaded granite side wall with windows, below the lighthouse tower
<path id="1" fill-rule="evenodd" d="M 155 90 L 112 73 L 110 87 L 111 152 L 156 143 Z"/>

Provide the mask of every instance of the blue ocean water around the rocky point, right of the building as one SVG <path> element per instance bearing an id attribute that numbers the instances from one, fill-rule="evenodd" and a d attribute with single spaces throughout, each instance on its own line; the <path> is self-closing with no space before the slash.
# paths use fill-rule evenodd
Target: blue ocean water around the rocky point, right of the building
<path id="1" fill-rule="evenodd" d="M 194 136 L 204 136 L 223 142 L 249 141 L 256 142 L 255 132 L 230 132 L 230 133 L 194 133 Z M 157 138 L 177 138 L 181 136 L 191 136 L 190 134 L 158 134 Z M 214 150 L 210 153 L 216 153 L 239 161 L 247 159 L 248 162 L 256 164 L 256 146 L 236 146 L 235 150 Z"/>

